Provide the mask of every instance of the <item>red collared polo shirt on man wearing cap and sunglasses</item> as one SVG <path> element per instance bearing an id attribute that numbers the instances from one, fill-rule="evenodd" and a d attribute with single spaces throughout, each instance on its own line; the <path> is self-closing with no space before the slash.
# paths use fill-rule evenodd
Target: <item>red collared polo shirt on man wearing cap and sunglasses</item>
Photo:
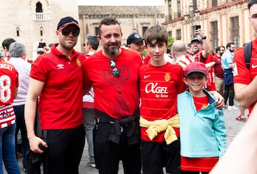
<path id="1" fill-rule="evenodd" d="M 39 95 L 41 129 L 66 129 L 83 125 L 82 63 L 85 56 L 75 50 L 71 59 L 56 49 L 44 53 L 31 66 L 31 78 L 44 82 Z"/>

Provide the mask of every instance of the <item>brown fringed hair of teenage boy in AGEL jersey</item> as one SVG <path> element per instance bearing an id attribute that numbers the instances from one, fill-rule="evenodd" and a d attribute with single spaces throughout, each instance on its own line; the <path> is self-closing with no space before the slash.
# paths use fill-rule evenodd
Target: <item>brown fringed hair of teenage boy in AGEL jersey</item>
<path id="1" fill-rule="evenodd" d="M 165 42 L 168 44 L 168 32 L 163 26 L 156 24 L 146 30 L 143 34 L 143 40 L 146 44 L 151 44 L 153 40 L 156 40 L 156 43 Z"/>

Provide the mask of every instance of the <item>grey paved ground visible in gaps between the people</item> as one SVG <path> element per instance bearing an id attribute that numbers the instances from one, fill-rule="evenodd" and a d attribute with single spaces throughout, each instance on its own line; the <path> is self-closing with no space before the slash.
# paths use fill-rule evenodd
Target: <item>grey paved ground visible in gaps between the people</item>
<path id="1" fill-rule="evenodd" d="M 238 107 L 237 102 L 235 101 L 235 105 Z M 245 124 L 245 122 L 236 121 L 236 117 L 239 116 L 239 108 L 238 110 L 228 111 L 226 109 L 223 109 L 225 121 L 226 121 L 226 134 L 227 134 L 227 145 L 231 143 L 233 138 L 236 136 L 238 131 L 242 128 L 242 126 Z M 248 111 L 246 110 L 246 116 L 248 114 Z M 95 168 L 91 168 L 89 165 L 87 165 L 89 161 L 89 155 L 88 155 L 88 147 L 85 145 L 84 148 L 84 154 L 81 158 L 81 164 L 79 165 L 79 173 L 89 173 L 89 174 L 97 174 L 98 170 Z M 21 158 L 19 159 L 19 166 L 22 171 L 22 165 L 21 165 Z M 120 165 L 119 174 L 123 173 L 122 165 Z M 4 171 L 4 174 L 6 174 L 6 171 Z"/>

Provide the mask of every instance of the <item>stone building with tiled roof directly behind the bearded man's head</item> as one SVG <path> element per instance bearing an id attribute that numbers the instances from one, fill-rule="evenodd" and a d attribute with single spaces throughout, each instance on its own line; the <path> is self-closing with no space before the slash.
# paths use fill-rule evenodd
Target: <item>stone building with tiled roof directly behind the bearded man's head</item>
<path id="1" fill-rule="evenodd" d="M 98 34 L 100 21 L 106 17 L 120 22 L 123 45 L 130 34 L 143 36 L 149 26 L 164 22 L 163 6 L 79 6 L 81 46 L 86 34 Z"/>

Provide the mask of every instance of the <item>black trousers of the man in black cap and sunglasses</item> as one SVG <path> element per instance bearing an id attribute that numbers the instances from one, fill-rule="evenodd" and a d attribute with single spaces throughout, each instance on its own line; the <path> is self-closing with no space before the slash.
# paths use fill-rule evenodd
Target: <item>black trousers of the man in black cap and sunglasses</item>
<path id="1" fill-rule="evenodd" d="M 48 144 L 43 162 L 44 173 L 78 174 L 85 145 L 84 125 L 70 129 L 44 130 L 42 135 Z"/>

